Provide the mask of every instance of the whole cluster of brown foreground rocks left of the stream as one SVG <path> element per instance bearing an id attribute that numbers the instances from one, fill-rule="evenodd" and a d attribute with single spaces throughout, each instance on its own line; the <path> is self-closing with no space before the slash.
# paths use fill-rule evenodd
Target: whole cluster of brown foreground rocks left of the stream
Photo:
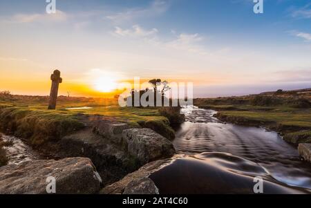
<path id="1" fill-rule="evenodd" d="M 159 192 L 147 176 L 165 161 L 162 159 L 174 155 L 170 140 L 151 129 L 131 129 L 103 117 L 88 118 L 85 125 L 41 146 L 42 153 L 63 159 L 27 160 L 1 167 L 0 193 L 47 193 L 50 176 L 55 178 L 56 193 Z M 136 171 L 144 164 L 147 167 Z"/>

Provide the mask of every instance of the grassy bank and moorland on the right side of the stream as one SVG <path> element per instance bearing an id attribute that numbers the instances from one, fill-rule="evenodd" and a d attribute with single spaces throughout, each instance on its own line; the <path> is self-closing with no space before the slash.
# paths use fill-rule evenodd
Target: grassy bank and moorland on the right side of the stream
<path id="1" fill-rule="evenodd" d="M 279 131 L 291 143 L 311 142 L 310 90 L 271 92 L 242 97 L 197 99 L 200 108 L 218 111 L 218 119 L 245 126 L 265 126 Z"/>

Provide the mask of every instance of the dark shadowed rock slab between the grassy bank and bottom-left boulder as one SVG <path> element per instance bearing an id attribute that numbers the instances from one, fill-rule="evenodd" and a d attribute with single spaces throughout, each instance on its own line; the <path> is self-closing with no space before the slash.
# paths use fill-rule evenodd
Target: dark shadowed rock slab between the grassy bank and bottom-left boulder
<path id="1" fill-rule="evenodd" d="M 55 158 L 90 158 L 100 173 L 103 185 L 120 180 L 126 174 L 141 167 L 140 161 L 129 155 L 120 144 L 92 132 L 87 128 L 67 135 L 58 142 L 58 146 L 48 153 Z"/>

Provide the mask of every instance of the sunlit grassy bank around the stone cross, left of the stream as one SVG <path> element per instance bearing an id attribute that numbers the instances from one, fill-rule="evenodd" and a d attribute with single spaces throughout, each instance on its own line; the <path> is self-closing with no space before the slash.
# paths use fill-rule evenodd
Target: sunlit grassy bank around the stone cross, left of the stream
<path id="1" fill-rule="evenodd" d="M 56 111 L 46 110 L 48 97 L 0 96 L 1 131 L 26 138 L 33 146 L 58 140 L 82 129 L 81 114 L 102 115 L 133 126 L 153 129 L 173 139 L 171 124 L 183 121 L 178 108 L 122 108 L 115 99 L 59 97 Z M 91 108 L 80 108 L 80 107 Z"/>

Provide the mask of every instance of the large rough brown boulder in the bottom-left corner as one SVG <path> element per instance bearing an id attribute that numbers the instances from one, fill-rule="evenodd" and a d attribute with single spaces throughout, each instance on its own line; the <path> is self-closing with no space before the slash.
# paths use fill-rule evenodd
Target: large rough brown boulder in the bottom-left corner
<path id="1" fill-rule="evenodd" d="M 0 168 L 0 193 L 47 193 L 48 177 L 56 193 L 97 193 L 101 178 L 88 158 L 33 160 Z"/>

